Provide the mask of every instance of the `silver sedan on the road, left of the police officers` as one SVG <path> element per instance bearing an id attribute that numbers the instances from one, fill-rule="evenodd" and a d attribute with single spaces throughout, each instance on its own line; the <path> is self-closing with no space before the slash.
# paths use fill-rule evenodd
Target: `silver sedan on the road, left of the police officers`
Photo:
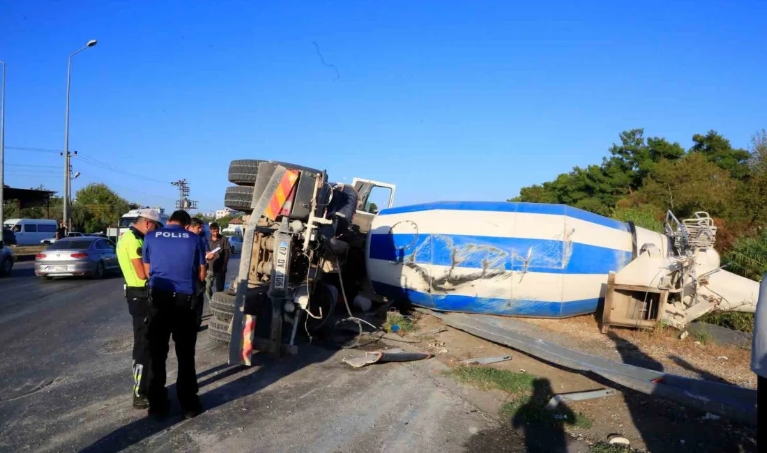
<path id="1" fill-rule="evenodd" d="M 104 277 L 120 268 L 114 242 L 95 236 L 64 238 L 35 255 L 35 275 L 51 279 L 87 275 Z"/>

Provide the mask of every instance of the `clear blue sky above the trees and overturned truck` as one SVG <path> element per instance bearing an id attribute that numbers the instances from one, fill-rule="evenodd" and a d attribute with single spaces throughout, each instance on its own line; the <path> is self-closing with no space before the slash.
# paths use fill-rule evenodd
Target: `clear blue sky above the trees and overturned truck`
<path id="1" fill-rule="evenodd" d="M 179 178 L 221 208 L 230 159 L 392 182 L 397 205 L 502 200 L 622 130 L 746 147 L 767 127 L 767 2 L 521 3 L 0 0 L 5 144 L 64 147 L 67 55 L 90 39 L 70 149 L 158 182 L 75 158 L 74 189 L 166 208 Z M 56 153 L 6 164 L 12 186 L 63 185 Z"/>

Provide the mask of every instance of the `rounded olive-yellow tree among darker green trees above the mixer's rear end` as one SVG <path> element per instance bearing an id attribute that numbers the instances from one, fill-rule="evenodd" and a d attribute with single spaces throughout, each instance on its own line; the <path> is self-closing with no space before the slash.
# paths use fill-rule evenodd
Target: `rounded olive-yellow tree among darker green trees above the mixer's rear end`
<path id="1" fill-rule="evenodd" d="M 670 209 L 680 218 L 696 211 L 724 217 L 732 212 L 736 181 L 702 154 L 691 153 L 658 162 L 641 192 L 650 205 Z"/>

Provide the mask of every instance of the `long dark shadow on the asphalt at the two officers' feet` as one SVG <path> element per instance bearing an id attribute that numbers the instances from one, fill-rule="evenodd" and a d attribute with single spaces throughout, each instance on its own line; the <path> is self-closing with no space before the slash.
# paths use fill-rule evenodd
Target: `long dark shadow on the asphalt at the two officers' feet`
<path id="1" fill-rule="evenodd" d="M 201 377 L 210 376 L 207 379 L 199 380 L 198 383 L 201 389 L 229 376 L 238 373 L 243 374 L 232 382 L 225 383 L 223 386 L 211 389 L 208 392 L 201 392 L 199 397 L 202 407 L 206 412 L 209 412 L 228 402 L 251 396 L 305 366 L 324 362 L 335 352 L 336 350 L 334 349 L 303 346 L 301 347 L 301 353 L 298 355 L 281 360 L 265 353 L 256 354 L 252 357 L 252 367 L 229 366 L 224 363 L 211 369 L 206 369 L 197 375 L 198 380 Z M 176 394 L 176 385 L 169 386 L 168 390 L 169 396 L 173 397 Z M 177 413 L 177 405 L 174 405 L 171 411 L 171 415 L 167 419 L 157 420 L 147 416 L 117 428 L 81 451 L 84 453 L 112 453 L 137 445 L 144 439 L 172 428 L 179 422 L 183 422 L 183 419 Z M 174 414 L 173 411 L 176 413 Z M 199 417 L 205 416 L 205 413 L 199 415 Z"/>

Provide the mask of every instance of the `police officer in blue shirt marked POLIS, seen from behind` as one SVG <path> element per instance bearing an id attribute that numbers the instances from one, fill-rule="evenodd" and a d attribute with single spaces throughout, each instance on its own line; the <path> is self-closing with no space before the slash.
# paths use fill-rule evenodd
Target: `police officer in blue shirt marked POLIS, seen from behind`
<path id="1" fill-rule="evenodd" d="M 143 263 L 149 275 L 150 325 L 152 353 L 149 383 L 150 415 L 166 415 L 170 409 L 167 397 L 165 362 L 168 342 L 173 336 L 179 363 L 176 395 L 185 419 L 202 412 L 197 392 L 194 354 L 197 337 L 196 291 L 205 281 L 205 257 L 199 236 L 186 227 L 192 218 L 186 211 L 170 216 L 166 228 L 146 235 Z"/>

